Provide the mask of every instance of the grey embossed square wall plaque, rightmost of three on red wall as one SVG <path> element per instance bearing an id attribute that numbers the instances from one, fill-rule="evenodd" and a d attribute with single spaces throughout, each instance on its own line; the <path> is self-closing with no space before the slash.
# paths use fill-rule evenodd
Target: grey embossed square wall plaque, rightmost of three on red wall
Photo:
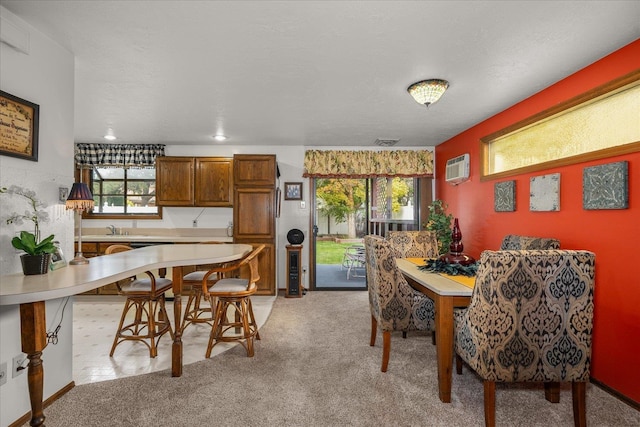
<path id="1" fill-rule="evenodd" d="M 629 162 L 607 163 L 582 172 L 584 209 L 627 209 L 629 207 Z"/>

